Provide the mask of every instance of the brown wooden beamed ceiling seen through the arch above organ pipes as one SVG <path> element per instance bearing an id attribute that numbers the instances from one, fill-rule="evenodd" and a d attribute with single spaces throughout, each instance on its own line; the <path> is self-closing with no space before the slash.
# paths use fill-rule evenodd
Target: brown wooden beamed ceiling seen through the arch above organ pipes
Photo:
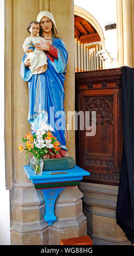
<path id="1" fill-rule="evenodd" d="M 74 36 L 84 44 L 100 41 L 99 34 L 90 22 L 76 15 L 74 15 Z"/>

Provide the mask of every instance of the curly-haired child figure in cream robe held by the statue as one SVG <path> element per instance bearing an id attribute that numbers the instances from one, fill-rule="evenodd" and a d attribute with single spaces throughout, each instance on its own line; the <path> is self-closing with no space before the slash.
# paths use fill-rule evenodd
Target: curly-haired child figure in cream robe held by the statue
<path id="1" fill-rule="evenodd" d="M 34 44 L 39 43 L 42 40 L 47 42 L 47 45 L 50 46 L 52 45 L 52 41 L 45 40 L 41 36 L 38 36 L 40 32 L 40 23 L 37 21 L 31 21 L 27 27 L 27 31 L 30 36 L 25 39 L 22 48 L 29 57 L 29 62 L 31 64 L 29 69 L 34 75 L 44 73 L 47 70 L 47 56 L 43 51 L 37 50 Z"/>

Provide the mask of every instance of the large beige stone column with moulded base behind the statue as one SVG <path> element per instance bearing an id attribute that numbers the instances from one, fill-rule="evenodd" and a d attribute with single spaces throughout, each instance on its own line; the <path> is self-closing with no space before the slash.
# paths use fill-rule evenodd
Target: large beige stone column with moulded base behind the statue
<path id="1" fill-rule="evenodd" d="M 78 187 L 67 188 L 61 193 L 56 201 L 58 220 L 49 228 L 43 219 L 43 195 L 35 190 L 24 173 L 25 152 L 18 153 L 22 136 L 30 131 L 27 121 L 28 84 L 20 77 L 22 43 L 28 36 L 27 24 L 35 20 L 42 10 L 49 10 L 54 14 L 58 31 L 67 46 L 69 57 L 65 82 L 65 111 L 67 113 L 74 110 L 73 4 L 73 0 L 5 0 L 5 112 L 8 113 L 5 116 L 5 156 L 7 187 L 11 188 L 13 184 L 10 191 L 12 245 L 56 245 L 60 244 L 60 237 L 86 235 L 86 217 L 82 214 L 82 193 Z M 74 132 L 69 132 L 67 148 L 75 159 Z M 53 236 L 53 230 L 56 236 Z"/>

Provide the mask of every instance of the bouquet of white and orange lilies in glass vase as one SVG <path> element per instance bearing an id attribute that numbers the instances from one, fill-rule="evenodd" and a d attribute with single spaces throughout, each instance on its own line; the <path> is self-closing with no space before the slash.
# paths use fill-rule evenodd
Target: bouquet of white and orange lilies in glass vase
<path id="1" fill-rule="evenodd" d="M 60 142 L 58 139 L 52 134 L 53 128 L 46 123 L 40 123 L 39 129 L 37 131 L 34 130 L 33 133 L 26 133 L 25 137 L 22 137 L 22 141 L 26 144 L 26 148 L 22 147 L 22 144 L 18 145 L 18 149 L 20 149 L 20 153 L 23 150 L 26 150 L 26 159 L 28 159 L 28 153 L 34 155 L 35 161 L 33 162 L 33 166 L 36 174 L 41 174 L 43 169 L 43 161 L 41 157 L 46 155 L 47 153 L 54 155 L 49 149 L 52 149 L 55 153 L 59 154 L 60 150 Z"/>

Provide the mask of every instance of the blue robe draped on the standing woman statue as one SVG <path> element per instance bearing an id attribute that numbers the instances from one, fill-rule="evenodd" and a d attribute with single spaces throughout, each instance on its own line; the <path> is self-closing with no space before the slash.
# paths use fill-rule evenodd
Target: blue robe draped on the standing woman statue
<path id="1" fill-rule="evenodd" d="M 52 39 L 52 46 L 58 50 L 58 60 L 54 62 L 48 58 L 48 69 L 40 75 L 33 75 L 24 65 L 24 54 L 21 63 L 21 77 L 28 82 L 29 112 L 28 122 L 39 129 L 40 121 L 50 124 L 55 130 L 54 136 L 58 137 L 62 149 L 66 149 L 65 141 L 65 99 L 64 81 L 67 67 L 68 53 L 64 42 Z"/>

